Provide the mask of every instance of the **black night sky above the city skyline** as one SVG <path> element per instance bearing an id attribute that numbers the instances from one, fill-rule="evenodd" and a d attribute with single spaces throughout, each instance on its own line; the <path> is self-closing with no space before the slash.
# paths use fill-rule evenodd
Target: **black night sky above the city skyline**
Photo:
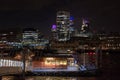
<path id="1" fill-rule="evenodd" d="M 82 18 L 87 18 L 94 31 L 120 30 L 118 0 L 1 0 L 0 31 L 34 27 L 49 35 L 58 10 L 70 11 L 77 28 L 81 27 Z"/>

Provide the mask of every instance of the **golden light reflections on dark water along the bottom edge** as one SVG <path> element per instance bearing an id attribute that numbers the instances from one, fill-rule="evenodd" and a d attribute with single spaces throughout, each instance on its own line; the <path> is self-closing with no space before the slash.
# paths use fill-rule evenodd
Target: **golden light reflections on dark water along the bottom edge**
<path id="1" fill-rule="evenodd" d="M 3 76 L 2 80 L 14 80 L 14 77 L 13 76 Z M 96 80 L 96 79 L 95 79 L 95 77 L 29 76 L 29 77 L 26 77 L 25 80 Z"/>

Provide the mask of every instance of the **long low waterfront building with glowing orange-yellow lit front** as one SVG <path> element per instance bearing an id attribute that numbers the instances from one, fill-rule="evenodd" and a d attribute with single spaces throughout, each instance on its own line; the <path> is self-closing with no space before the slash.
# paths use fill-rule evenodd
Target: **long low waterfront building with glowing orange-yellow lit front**
<path id="1" fill-rule="evenodd" d="M 72 70 L 72 68 L 74 68 Z M 78 65 L 72 53 L 38 53 L 34 56 L 32 61 L 32 71 L 76 71 Z"/>

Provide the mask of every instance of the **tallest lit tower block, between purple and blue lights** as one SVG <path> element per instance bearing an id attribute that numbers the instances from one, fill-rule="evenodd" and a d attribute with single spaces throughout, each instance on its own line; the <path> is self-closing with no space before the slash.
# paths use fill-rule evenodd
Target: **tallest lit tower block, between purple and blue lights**
<path id="1" fill-rule="evenodd" d="M 56 17 L 57 40 L 67 41 L 70 39 L 70 12 L 58 11 Z"/>

